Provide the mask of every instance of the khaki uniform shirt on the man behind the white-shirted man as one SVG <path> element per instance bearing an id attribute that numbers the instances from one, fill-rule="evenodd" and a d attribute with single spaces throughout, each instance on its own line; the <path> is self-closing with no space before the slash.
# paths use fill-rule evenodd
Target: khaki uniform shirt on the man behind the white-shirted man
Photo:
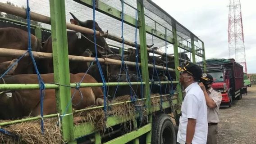
<path id="1" fill-rule="evenodd" d="M 215 108 L 209 108 L 207 106 L 208 123 L 219 123 L 219 105 L 222 99 L 221 93 L 216 90 L 213 90 L 212 88 L 210 88 L 210 90 L 208 90 L 207 93 L 217 105 Z"/>

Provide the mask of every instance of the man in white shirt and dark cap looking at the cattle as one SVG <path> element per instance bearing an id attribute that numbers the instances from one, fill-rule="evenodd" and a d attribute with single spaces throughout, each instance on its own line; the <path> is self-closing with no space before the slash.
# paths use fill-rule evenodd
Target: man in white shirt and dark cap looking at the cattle
<path id="1" fill-rule="evenodd" d="M 180 83 L 186 91 L 181 107 L 177 142 L 179 144 L 206 144 L 208 123 L 207 106 L 203 91 L 198 85 L 202 71 L 194 63 L 177 67 Z"/>

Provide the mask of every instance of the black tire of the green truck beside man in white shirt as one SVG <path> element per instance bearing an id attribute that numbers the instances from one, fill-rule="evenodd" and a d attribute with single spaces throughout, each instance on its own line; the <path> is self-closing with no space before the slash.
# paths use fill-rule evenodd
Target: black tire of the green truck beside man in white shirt
<path id="1" fill-rule="evenodd" d="M 153 119 L 151 144 L 176 144 L 174 125 L 169 115 L 160 113 Z"/>

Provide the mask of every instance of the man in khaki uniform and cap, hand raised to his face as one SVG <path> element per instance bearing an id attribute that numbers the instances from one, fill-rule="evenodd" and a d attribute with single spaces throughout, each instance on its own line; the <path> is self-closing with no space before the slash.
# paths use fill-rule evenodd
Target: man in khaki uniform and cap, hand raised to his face
<path id="1" fill-rule="evenodd" d="M 217 144 L 219 105 L 221 103 L 221 93 L 212 88 L 213 77 L 204 73 L 199 86 L 204 92 L 207 105 L 208 136 L 207 144 Z"/>

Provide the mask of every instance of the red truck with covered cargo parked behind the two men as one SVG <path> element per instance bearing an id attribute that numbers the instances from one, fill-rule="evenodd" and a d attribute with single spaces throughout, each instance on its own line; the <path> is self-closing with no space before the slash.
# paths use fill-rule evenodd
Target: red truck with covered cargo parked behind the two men
<path id="1" fill-rule="evenodd" d="M 242 99 L 242 65 L 233 58 L 212 58 L 206 60 L 206 69 L 214 78 L 213 89 L 222 93 L 221 105 L 231 107 L 233 100 Z"/>

